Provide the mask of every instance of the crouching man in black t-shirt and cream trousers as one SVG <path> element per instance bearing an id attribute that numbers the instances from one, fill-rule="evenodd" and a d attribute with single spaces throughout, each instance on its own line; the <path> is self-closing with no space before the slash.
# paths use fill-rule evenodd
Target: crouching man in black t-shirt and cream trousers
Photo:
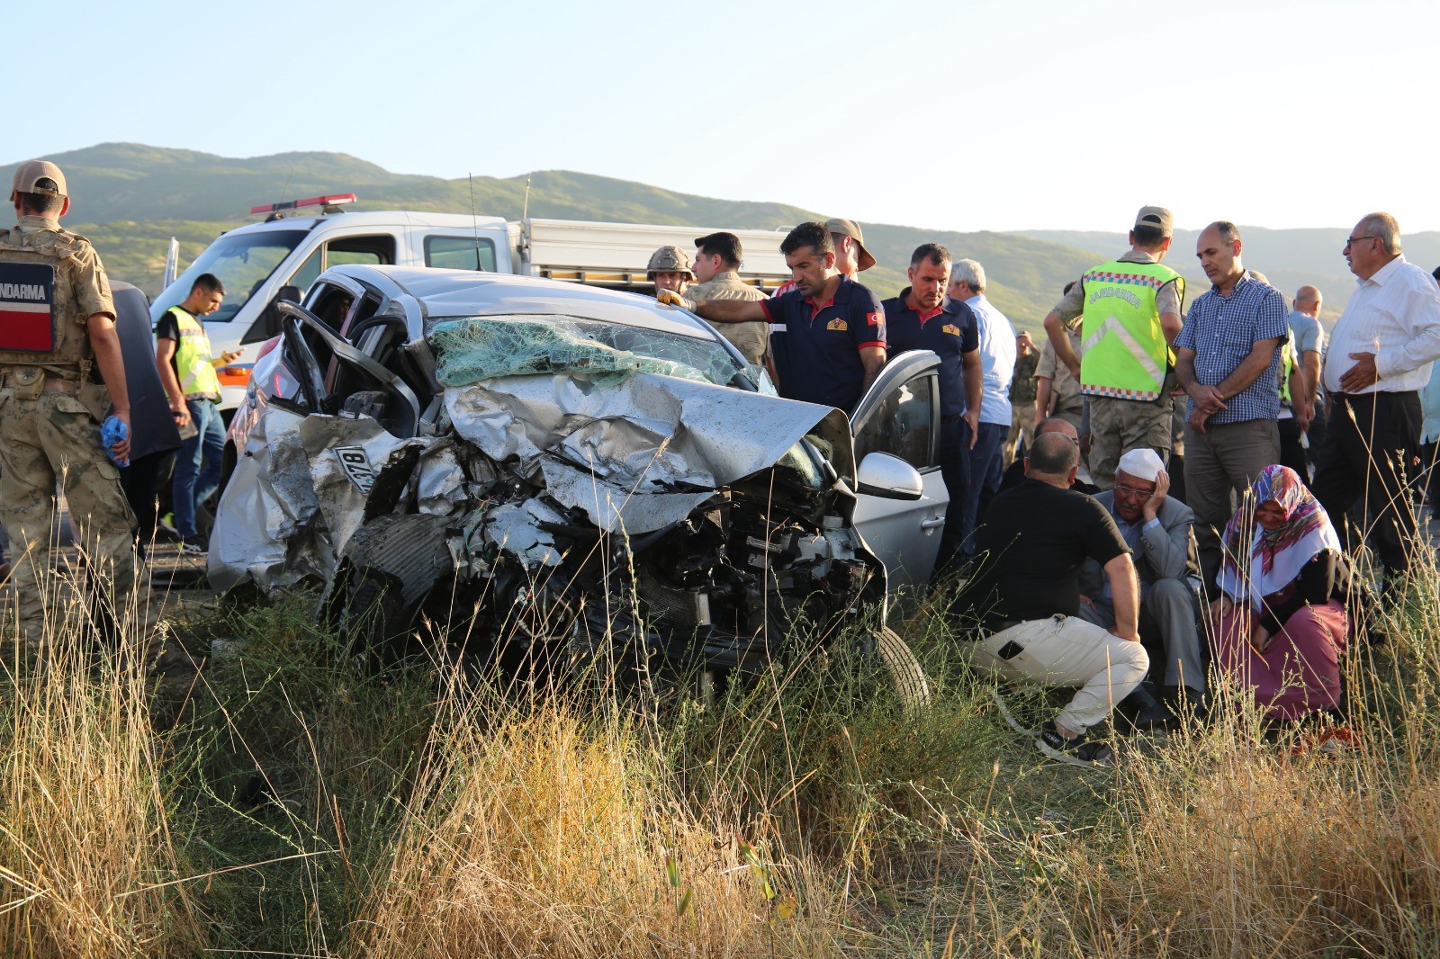
<path id="1" fill-rule="evenodd" d="M 1080 451 L 1068 436 L 1035 438 L 1025 482 L 995 497 L 976 530 L 978 567 L 963 599 L 986 634 L 973 644 L 976 667 L 1008 680 L 1080 687 L 1041 733 L 1041 752 L 1104 765 L 1109 746 L 1087 742 L 1086 731 L 1140 684 L 1149 657 L 1139 641 L 1130 550 L 1104 507 L 1068 488 L 1079 465 Z M 1086 559 L 1110 579 L 1110 631 L 1079 618 Z"/>

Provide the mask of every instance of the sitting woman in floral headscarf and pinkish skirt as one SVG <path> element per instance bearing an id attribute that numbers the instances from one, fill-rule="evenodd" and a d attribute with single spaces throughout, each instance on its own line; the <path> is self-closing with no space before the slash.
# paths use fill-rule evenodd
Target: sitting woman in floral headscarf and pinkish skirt
<path id="1" fill-rule="evenodd" d="M 1225 527 L 1211 603 L 1215 664 L 1272 719 L 1339 706 L 1349 635 L 1341 541 L 1287 467 L 1266 467 Z"/>

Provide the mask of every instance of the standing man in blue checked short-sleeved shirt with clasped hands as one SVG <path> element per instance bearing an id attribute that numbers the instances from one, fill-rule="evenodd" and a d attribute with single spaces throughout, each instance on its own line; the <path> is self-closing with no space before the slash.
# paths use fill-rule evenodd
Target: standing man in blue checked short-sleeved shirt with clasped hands
<path id="1" fill-rule="evenodd" d="M 1201 232 L 1195 255 L 1212 287 L 1191 304 L 1175 337 L 1175 374 L 1189 395 L 1187 505 L 1195 511 L 1207 589 L 1220 570 L 1220 530 L 1230 521 L 1231 490 L 1244 494 L 1261 469 L 1280 461 L 1284 297 L 1250 275 L 1240 248 L 1234 223 L 1221 220 Z"/>

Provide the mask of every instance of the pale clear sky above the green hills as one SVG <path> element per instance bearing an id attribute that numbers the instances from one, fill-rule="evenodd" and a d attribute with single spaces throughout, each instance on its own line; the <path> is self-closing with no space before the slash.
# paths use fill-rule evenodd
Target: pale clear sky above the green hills
<path id="1" fill-rule="evenodd" d="M 328 150 L 955 230 L 1123 230 L 1145 203 L 1182 228 L 1384 209 L 1440 229 L 1434 1 L 49 10 L 50 66 L 9 43 L 26 92 L 0 98 L 0 161 L 104 141 Z"/>

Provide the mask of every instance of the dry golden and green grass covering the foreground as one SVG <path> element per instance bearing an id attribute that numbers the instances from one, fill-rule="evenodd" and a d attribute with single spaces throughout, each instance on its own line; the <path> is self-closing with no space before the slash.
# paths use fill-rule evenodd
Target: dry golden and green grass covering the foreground
<path id="1" fill-rule="evenodd" d="M 1349 655 L 1354 747 L 1223 691 L 1104 772 L 1012 733 L 933 609 L 912 714 L 841 654 L 713 701 L 373 674 L 304 595 L 173 602 L 209 659 L 156 681 L 58 606 L 72 652 L 0 678 L 0 952 L 1433 956 L 1437 582 Z"/>

